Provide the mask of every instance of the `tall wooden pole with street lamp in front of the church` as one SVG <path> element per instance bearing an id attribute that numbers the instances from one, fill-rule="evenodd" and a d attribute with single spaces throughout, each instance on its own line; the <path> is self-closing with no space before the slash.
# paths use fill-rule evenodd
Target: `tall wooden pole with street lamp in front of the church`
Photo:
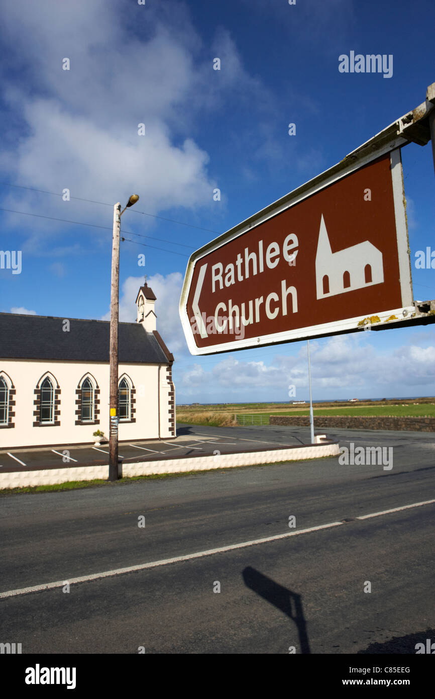
<path id="1" fill-rule="evenodd" d="M 118 202 L 113 207 L 112 285 L 110 288 L 110 423 L 109 423 L 109 480 L 119 477 L 118 465 L 118 324 L 119 324 L 119 231 L 124 211 L 138 201 L 132 194 L 121 211 Z"/>

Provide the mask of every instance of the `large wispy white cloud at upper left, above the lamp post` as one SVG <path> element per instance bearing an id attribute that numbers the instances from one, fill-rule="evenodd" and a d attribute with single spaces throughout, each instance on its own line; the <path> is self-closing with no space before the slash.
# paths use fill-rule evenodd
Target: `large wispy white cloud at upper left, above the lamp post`
<path id="1" fill-rule="evenodd" d="M 8 179 L 113 203 L 146 192 L 143 206 L 152 214 L 213 206 L 209 156 L 192 136 L 199 111 L 215 109 L 235 92 L 237 99 L 267 103 L 228 32 L 218 29 L 212 45 L 223 61 L 216 75 L 183 3 L 133 4 L 128 13 L 113 0 L 2 4 L 8 38 L 3 99 L 17 129 L 0 159 Z M 64 57 L 69 71 L 62 70 Z M 145 136 L 138 136 L 140 123 Z M 6 196 L 5 208 L 17 208 L 15 195 Z M 38 202 L 40 212 L 38 196 L 21 190 L 20 210 L 34 211 Z M 98 206 L 49 196 L 43 202 L 46 215 L 101 224 Z M 22 226 L 23 219 L 10 215 L 8 222 Z M 54 226 L 31 222 L 38 251 L 38 230 L 50 233 Z M 142 217 L 142 226 L 152 224 Z"/>

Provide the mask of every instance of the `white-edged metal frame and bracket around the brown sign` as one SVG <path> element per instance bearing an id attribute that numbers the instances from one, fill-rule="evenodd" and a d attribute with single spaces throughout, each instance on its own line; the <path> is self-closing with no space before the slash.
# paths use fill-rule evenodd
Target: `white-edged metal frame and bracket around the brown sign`
<path id="1" fill-rule="evenodd" d="M 353 152 L 346 155 L 343 160 L 332 168 L 320 173 L 316 178 L 297 187 L 297 189 L 290 192 L 290 194 L 281 197 L 281 199 L 270 204 L 270 206 L 260 210 L 194 252 L 186 268 L 182 296 L 179 302 L 179 315 L 184 330 L 184 336 L 186 337 L 191 354 L 197 356 L 202 354 L 219 354 L 221 352 L 232 352 L 238 349 L 248 349 L 249 347 L 297 342 L 309 338 L 333 336 L 367 329 L 367 318 L 352 317 L 325 324 L 263 335 L 256 339 L 246 338 L 243 340 L 231 340 L 230 342 L 221 343 L 219 345 L 197 347 L 186 305 L 191 289 L 194 268 L 197 264 L 200 264 L 201 260 L 207 254 L 218 250 L 219 247 L 229 243 L 230 240 L 242 236 L 247 231 L 256 228 L 268 219 L 295 206 L 297 203 L 300 203 L 300 201 L 316 194 L 316 192 L 320 192 L 321 189 L 324 189 L 328 185 L 332 185 L 334 182 L 346 178 L 347 175 L 359 170 L 364 165 L 371 163 L 371 161 L 376 160 L 388 152 L 390 152 L 392 195 L 395 210 L 402 305 L 400 308 L 392 308 L 388 311 L 376 312 L 376 310 L 374 310 L 373 317 L 378 317 L 378 319 L 376 319 L 376 324 L 373 324 L 369 329 L 383 330 L 392 327 L 435 322 L 435 301 L 418 302 L 417 305 L 413 302 L 411 259 L 406 222 L 406 199 L 401 168 L 401 147 L 408 143 L 426 145 L 431 138 L 435 166 L 435 83 L 432 83 L 432 85 L 429 85 L 427 88 L 426 101 L 424 103 L 406 113 L 395 122 L 392 122 L 392 124 L 383 129 L 383 131 L 380 131 L 376 136 L 373 136 L 373 138 L 367 140 L 366 143 L 363 143 L 360 147 L 353 150 Z M 202 273 L 202 278 L 204 273 L 205 270 Z M 200 295 L 198 284 L 199 282 L 197 282 L 195 294 L 197 298 Z M 198 326 L 201 324 L 203 325 L 200 315 L 196 317 L 196 320 Z"/>

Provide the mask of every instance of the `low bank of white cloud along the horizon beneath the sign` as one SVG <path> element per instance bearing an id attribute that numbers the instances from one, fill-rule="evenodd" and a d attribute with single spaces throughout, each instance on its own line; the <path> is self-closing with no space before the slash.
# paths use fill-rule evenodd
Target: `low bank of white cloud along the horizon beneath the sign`
<path id="1" fill-rule="evenodd" d="M 337 336 L 320 343 L 311 340 L 311 379 L 314 399 L 346 397 L 354 393 L 376 397 L 419 394 L 422 387 L 435 387 L 435 347 L 404 345 L 380 352 L 369 338 Z M 179 401 L 288 401 L 308 399 L 307 345 L 296 355 L 277 354 L 271 361 L 249 361 L 242 354 L 226 356 L 212 367 L 196 357 L 189 368 L 177 369 L 175 380 Z M 209 359 L 209 358 L 208 358 Z M 288 397 L 288 386 L 296 387 L 295 398 Z M 432 388 L 431 388 L 432 386 Z M 347 397 L 354 397 L 348 395 Z"/>

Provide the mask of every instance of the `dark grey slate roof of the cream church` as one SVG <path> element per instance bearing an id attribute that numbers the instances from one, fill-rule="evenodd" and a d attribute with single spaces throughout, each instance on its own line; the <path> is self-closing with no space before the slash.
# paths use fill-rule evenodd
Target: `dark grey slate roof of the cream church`
<path id="1" fill-rule="evenodd" d="M 44 315 L 0 313 L 1 359 L 109 361 L 110 322 Z M 173 361 L 156 331 L 147 333 L 140 323 L 119 323 L 119 363 Z"/>

